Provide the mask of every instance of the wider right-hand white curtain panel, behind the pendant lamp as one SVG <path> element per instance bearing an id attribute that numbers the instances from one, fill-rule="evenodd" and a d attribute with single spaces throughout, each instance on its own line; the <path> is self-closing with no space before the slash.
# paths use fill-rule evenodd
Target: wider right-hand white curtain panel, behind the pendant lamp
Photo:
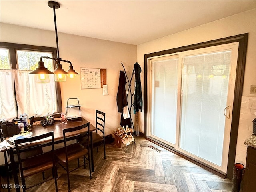
<path id="1" fill-rule="evenodd" d="M 18 116 L 45 116 L 57 109 L 54 75 L 50 75 L 50 83 L 36 83 L 36 75 L 30 71 L 14 70 Z"/>

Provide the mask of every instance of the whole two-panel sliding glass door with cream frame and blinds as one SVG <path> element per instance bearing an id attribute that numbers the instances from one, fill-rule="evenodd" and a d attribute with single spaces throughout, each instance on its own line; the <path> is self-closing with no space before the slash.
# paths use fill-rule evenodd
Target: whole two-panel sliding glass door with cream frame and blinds
<path id="1" fill-rule="evenodd" d="M 226 173 L 238 44 L 150 59 L 148 136 Z"/>

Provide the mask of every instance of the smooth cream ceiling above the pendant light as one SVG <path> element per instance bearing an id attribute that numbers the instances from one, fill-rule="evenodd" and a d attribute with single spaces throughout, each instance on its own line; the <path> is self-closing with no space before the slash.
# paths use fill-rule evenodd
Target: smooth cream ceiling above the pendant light
<path id="1" fill-rule="evenodd" d="M 0 0 L 0 21 L 54 31 L 53 9 L 44 0 Z M 58 32 L 142 44 L 240 12 L 256 0 L 57 0 Z"/>

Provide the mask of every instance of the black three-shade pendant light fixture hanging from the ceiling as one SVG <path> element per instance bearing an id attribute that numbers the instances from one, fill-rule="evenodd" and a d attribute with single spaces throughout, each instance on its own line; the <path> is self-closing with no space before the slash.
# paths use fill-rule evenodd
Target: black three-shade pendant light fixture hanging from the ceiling
<path id="1" fill-rule="evenodd" d="M 62 60 L 60 58 L 57 24 L 56 24 L 56 14 L 55 14 L 55 9 L 60 8 L 60 4 L 58 2 L 55 2 L 55 1 L 48 1 L 48 6 L 50 8 L 53 8 L 56 46 L 57 46 L 57 58 L 51 58 L 51 57 L 46 57 L 46 56 L 40 57 L 40 61 L 38 62 L 38 68 L 36 68 L 36 70 L 29 73 L 29 74 L 40 74 L 40 76 L 38 76 L 38 78 L 41 78 L 39 80 L 41 83 L 43 83 L 45 81 L 42 74 L 55 74 L 55 77 L 54 77 L 55 81 L 66 81 L 66 74 L 68 74 L 68 76 L 70 76 L 70 78 L 74 78 L 75 75 L 79 75 L 77 72 L 74 71 L 73 66 L 72 66 L 70 61 Z M 52 60 L 57 61 L 56 69 L 54 70 L 54 72 L 50 72 L 49 70 L 47 70 L 47 68 L 44 67 L 44 62 L 42 61 L 42 58 L 52 59 Z M 66 72 L 62 69 L 62 64 L 60 64 L 60 61 L 70 63 L 68 72 Z"/>

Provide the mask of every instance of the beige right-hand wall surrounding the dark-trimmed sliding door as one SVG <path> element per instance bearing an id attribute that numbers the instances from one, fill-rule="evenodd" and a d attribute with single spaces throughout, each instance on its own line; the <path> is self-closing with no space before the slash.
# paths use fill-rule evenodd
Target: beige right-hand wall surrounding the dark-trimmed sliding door
<path id="1" fill-rule="evenodd" d="M 142 87 L 144 87 L 144 54 L 168 50 L 172 48 L 178 48 L 181 46 L 196 44 L 200 42 L 206 42 L 209 40 L 215 40 L 228 36 L 234 36 L 243 33 L 249 33 L 248 36 L 248 48 L 246 56 L 246 67 L 244 74 L 244 86 L 243 96 L 256 97 L 256 95 L 250 94 L 250 85 L 256 85 L 256 12 L 255 9 L 230 16 L 221 20 L 210 22 L 202 26 L 191 28 L 170 36 L 166 36 L 160 39 L 156 39 L 144 44 L 138 45 L 138 63 L 142 67 Z M 144 91 L 144 90 L 142 90 Z M 143 94 L 142 94 L 143 95 Z M 143 113 L 143 112 L 142 112 Z M 255 117 L 255 116 L 254 116 Z M 253 117 L 251 114 L 248 116 L 242 116 L 247 118 L 251 122 Z M 241 119 L 241 118 L 240 118 Z M 247 121 L 248 122 L 248 121 Z M 249 137 L 252 131 L 246 127 L 246 136 Z M 244 129 L 242 124 L 239 125 L 239 133 Z M 144 118 L 140 116 L 140 131 L 144 132 Z M 238 134 L 238 148 L 236 152 L 236 161 L 245 163 L 245 159 L 242 158 L 246 154 L 246 147 L 243 142 L 246 136 L 242 139 Z M 238 156 L 238 152 L 239 155 Z"/>

